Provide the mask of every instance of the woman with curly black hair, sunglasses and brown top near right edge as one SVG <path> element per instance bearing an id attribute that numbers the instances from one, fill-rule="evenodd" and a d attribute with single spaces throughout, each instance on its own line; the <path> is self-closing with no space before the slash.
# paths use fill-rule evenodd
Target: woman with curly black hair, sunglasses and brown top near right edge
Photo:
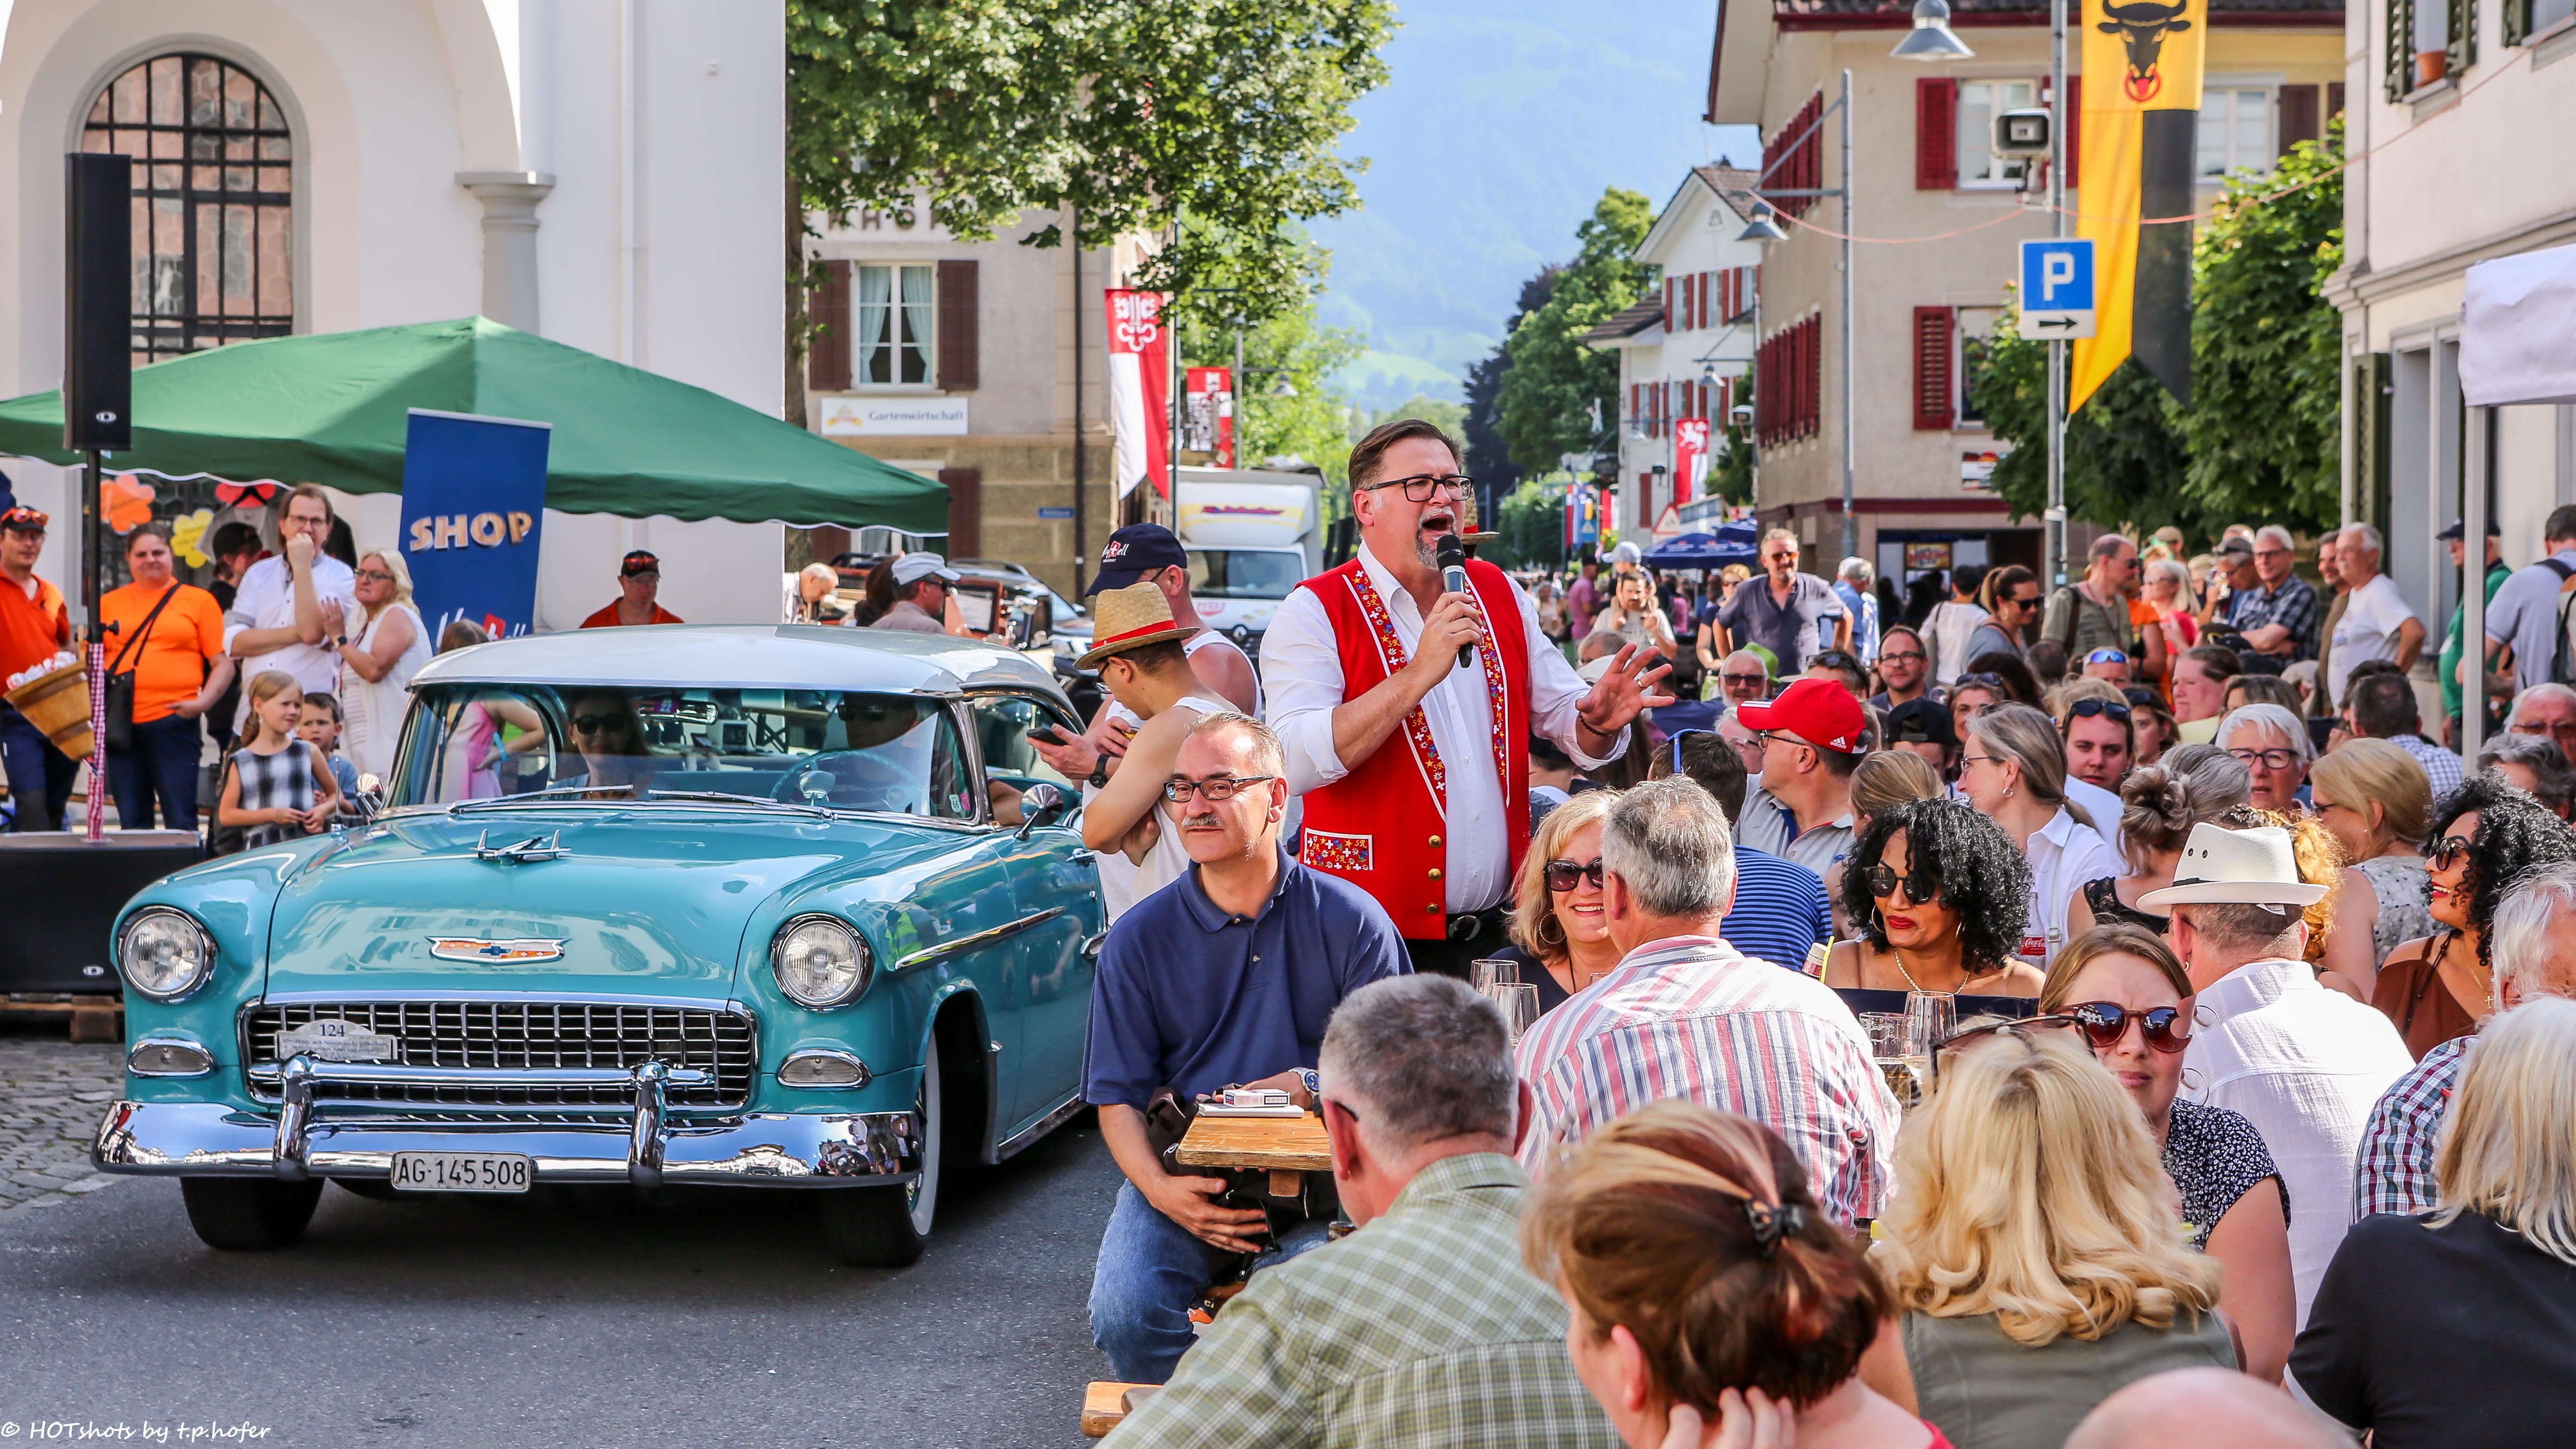
<path id="1" fill-rule="evenodd" d="M 2524 870 L 2566 860 L 2576 860 L 2576 831 L 2494 770 L 2473 775 L 2434 808 L 2424 836 L 2434 932 L 2388 952 L 2370 988 L 2370 1004 L 2396 1022 L 2416 1060 L 2476 1032 L 2494 1011 L 2486 927 L 2496 901 Z"/>

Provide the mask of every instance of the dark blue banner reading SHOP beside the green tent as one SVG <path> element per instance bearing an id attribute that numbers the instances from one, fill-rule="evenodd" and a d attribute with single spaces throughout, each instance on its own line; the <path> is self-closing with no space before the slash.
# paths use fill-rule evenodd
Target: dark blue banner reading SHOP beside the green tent
<path id="1" fill-rule="evenodd" d="M 492 638 L 536 623 L 551 422 L 412 409 L 402 458 L 402 561 L 438 638 L 474 620 Z"/>

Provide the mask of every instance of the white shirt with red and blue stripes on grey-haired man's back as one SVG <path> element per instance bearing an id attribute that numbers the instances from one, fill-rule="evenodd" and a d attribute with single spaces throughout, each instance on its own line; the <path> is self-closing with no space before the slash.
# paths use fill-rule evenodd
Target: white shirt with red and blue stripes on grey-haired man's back
<path id="1" fill-rule="evenodd" d="M 1680 1096 L 1780 1132 L 1837 1223 L 1878 1215 L 1896 1099 L 1860 1019 L 1821 981 L 1716 937 L 1672 937 L 1540 1017 L 1517 1055 L 1538 1102 L 1520 1143 L 1533 1174 L 1556 1143 Z"/>

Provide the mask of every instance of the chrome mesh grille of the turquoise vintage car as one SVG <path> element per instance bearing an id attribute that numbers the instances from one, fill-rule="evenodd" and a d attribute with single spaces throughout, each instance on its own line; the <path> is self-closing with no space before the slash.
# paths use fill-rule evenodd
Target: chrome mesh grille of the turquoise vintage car
<path id="1" fill-rule="evenodd" d="M 443 1068 L 634 1068 L 647 1060 L 714 1073 L 706 1086 L 670 1086 L 670 1107 L 742 1107 L 757 1048 L 742 1011 L 636 1006 L 621 1001 L 286 1001 L 242 1014 L 242 1060 L 278 1066 L 278 1037 L 304 1022 L 343 1019 L 402 1040 L 402 1066 Z M 252 1081 L 276 1099 L 276 1081 Z M 332 1084 L 335 1102 L 425 1107 L 634 1107 L 626 1086 L 368 1086 Z"/>

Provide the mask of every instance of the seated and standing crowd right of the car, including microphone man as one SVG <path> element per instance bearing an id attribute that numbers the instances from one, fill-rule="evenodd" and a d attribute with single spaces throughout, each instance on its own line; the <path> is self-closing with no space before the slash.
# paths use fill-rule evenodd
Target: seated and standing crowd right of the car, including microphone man
<path id="1" fill-rule="evenodd" d="M 2576 1434 L 2576 692 L 2460 759 L 2370 528 L 2324 587 L 2277 528 L 1904 597 L 1772 530 L 1703 597 L 1625 551 L 1453 592 L 1455 468 L 1360 443 L 1360 553 L 1252 700 L 1175 579 L 1103 600 L 1146 726 L 1051 762 L 1159 785 L 1090 831 L 1133 872 L 1092 1328 L 1164 1385 L 1118 1441 Z M 2491 669 L 2540 649 L 2512 579 Z M 1862 1011 L 1942 999 L 1899 1094 Z M 1340 1197 L 1175 1168 L 1218 1086 L 1311 1104 Z"/>

